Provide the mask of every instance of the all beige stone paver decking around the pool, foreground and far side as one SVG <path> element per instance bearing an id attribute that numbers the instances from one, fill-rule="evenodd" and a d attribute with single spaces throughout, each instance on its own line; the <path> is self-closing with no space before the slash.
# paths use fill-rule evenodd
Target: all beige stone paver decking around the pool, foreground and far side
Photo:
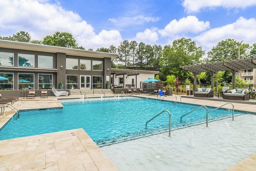
<path id="1" fill-rule="evenodd" d="M 117 96 L 117 95 L 116 95 Z M 157 99 L 157 96 L 133 95 Z M 177 96 L 177 95 L 176 95 Z M 95 97 L 95 96 L 88 96 Z M 170 101 L 174 96 L 165 97 Z M 18 110 L 63 107 L 58 99 L 82 98 L 80 95 L 49 97 L 40 99 L 20 99 L 14 106 Z M 216 98 L 215 98 L 216 99 Z M 219 107 L 227 101 L 221 99 L 194 99 L 181 96 L 181 102 Z M 256 102 L 256 100 L 252 100 Z M 256 112 L 255 104 L 233 102 L 235 110 Z M 224 108 L 232 109 L 232 105 Z M 0 115 L 0 128 L 14 115 L 9 107 L 4 116 Z M 70 133 L 76 133 L 71 136 Z M 0 170 L 46 170 L 46 171 L 117 171 L 117 168 L 98 148 L 83 129 L 47 133 L 17 139 L 0 141 Z M 255 168 L 252 170 L 252 168 Z M 244 159 L 227 171 L 256 171 L 256 154 Z"/>

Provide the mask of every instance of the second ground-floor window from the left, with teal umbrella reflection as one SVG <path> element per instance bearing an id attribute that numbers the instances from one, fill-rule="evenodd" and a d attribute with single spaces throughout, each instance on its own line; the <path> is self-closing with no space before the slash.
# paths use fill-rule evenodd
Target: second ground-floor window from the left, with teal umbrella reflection
<path id="1" fill-rule="evenodd" d="M 18 74 L 19 90 L 34 89 L 34 74 Z"/>

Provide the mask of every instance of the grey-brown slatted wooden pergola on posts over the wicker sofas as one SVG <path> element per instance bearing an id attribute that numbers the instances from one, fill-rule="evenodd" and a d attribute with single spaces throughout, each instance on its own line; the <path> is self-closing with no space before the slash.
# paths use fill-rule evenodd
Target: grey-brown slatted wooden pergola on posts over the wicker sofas
<path id="1" fill-rule="evenodd" d="M 210 72 L 211 87 L 214 87 L 214 73 L 230 70 L 232 72 L 232 88 L 236 88 L 236 72 L 240 70 L 251 70 L 256 68 L 256 58 L 243 58 L 230 61 L 217 61 L 206 64 L 185 65 L 180 68 L 191 71 L 194 75 L 194 90 L 197 89 L 197 75 L 201 72 Z"/>

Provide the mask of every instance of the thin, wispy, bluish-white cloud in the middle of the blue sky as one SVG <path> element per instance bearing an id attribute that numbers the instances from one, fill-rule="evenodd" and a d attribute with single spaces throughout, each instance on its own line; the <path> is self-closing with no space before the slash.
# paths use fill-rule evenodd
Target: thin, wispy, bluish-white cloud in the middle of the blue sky
<path id="1" fill-rule="evenodd" d="M 143 15 L 137 15 L 135 17 L 118 17 L 118 18 L 109 18 L 113 24 L 118 27 L 126 26 L 137 26 L 146 22 L 156 22 L 160 20 L 159 17 L 145 17 Z"/>

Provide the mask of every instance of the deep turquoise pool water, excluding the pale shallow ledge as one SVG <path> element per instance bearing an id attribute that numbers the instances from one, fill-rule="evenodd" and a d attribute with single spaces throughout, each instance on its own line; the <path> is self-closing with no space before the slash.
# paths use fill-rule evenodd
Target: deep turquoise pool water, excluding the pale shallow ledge
<path id="1" fill-rule="evenodd" d="M 0 131 L 0 140 L 83 128 L 97 145 L 103 146 L 167 131 L 167 113 L 149 122 L 148 129 L 145 130 L 145 123 L 163 110 L 169 110 L 172 114 L 172 130 L 206 122 L 204 108 L 185 116 L 180 123 L 180 116 L 198 106 L 155 99 L 135 98 L 89 103 L 78 101 L 62 104 L 63 109 L 58 110 L 21 112 L 19 119 L 14 117 Z M 244 113 L 235 112 L 235 116 L 239 114 Z M 232 111 L 215 110 L 209 113 L 209 121 L 231 116 Z"/>

